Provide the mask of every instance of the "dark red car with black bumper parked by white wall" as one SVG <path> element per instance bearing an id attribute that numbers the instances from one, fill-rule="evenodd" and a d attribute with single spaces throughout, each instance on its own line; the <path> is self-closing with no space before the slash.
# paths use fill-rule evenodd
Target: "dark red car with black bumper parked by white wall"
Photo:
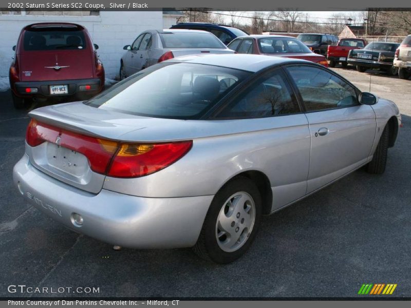
<path id="1" fill-rule="evenodd" d="M 28 101 L 90 98 L 104 88 L 104 67 L 86 28 L 38 23 L 23 28 L 13 46 L 9 80 L 14 107 Z"/>

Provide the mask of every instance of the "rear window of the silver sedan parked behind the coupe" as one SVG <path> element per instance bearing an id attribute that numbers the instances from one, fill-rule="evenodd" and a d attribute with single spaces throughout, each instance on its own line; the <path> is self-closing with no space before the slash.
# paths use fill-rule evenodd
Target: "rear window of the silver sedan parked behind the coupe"
<path id="1" fill-rule="evenodd" d="M 214 35 L 204 32 L 160 33 L 164 48 L 226 48 Z"/>

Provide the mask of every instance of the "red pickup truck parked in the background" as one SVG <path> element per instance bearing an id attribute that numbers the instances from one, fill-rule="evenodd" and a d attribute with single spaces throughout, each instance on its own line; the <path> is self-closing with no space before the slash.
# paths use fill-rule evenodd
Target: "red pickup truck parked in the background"
<path id="1" fill-rule="evenodd" d="M 365 45 L 367 41 L 363 38 L 341 38 L 337 46 L 328 46 L 327 60 L 330 62 L 328 66 L 334 67 L 335 64 L 341 63 L 346 67 L 348 52 L 352 49 L 362 49 Z"/>

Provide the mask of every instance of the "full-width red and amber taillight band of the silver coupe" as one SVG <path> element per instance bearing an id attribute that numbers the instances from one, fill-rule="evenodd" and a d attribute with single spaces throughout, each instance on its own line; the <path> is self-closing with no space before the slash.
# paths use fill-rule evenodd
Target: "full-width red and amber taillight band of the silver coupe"
<path id="1" fill-rule="evenodd" d="M 27 144 L 35 147 L 50 142 L 83 154 L 91 170 L 119 178 L 150 175 L 183 157 L 192 141 L 169 143 L 121 143 L 86 136 L 31 120 L 26 132 Z"/>

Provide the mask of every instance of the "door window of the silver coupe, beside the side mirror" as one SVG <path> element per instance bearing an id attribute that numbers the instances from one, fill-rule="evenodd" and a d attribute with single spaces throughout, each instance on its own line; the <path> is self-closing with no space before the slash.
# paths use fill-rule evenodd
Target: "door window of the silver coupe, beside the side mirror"
<path id="1" fill-rule="evenodd" d="M 317 67 L 287 67 L 307 111 L 358 105 L 354 88 L 337 76 Z"/>

